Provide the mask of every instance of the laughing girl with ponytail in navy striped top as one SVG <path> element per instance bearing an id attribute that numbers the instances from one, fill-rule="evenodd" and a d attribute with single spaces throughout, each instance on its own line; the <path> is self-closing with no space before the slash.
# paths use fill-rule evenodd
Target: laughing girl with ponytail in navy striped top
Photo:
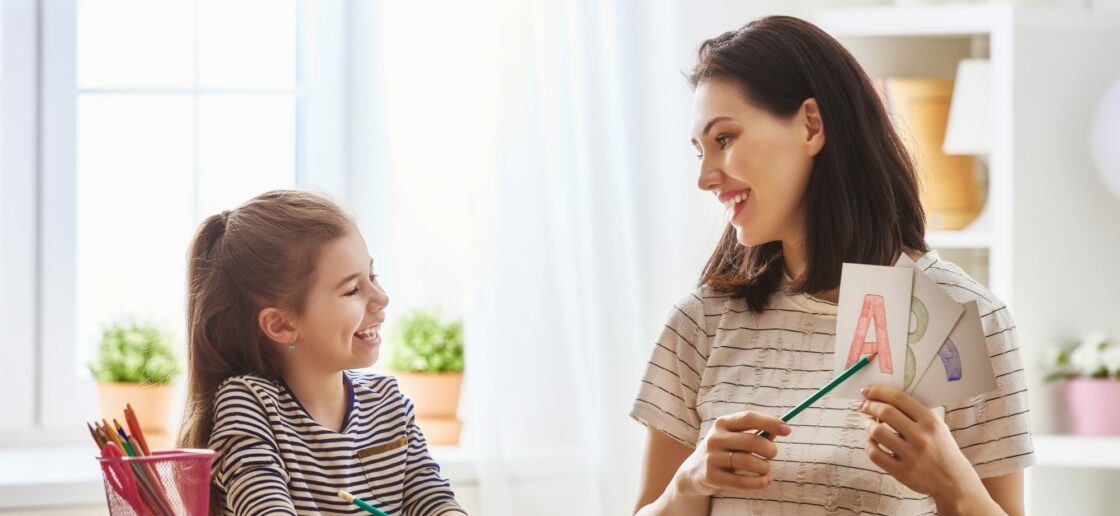
<path id="1" fill-rule="evenodd" d="M 207 218 L 188 264 L 183 447 L 218 451 L 212 514 L 461 515 L 411 402 L 373 365 L 389 298 L 355 223 L 270 191 Z"/>

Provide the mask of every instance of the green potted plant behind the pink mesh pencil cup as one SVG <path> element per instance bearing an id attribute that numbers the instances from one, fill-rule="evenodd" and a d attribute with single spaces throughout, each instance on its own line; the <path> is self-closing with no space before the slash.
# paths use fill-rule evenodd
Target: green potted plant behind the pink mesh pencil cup
<path id="1" fill-rule="evenodd" d="M 131 404 L 149 444 L 166 448 L 170 443 L 172 382 L 180 367 L 167 332 L 131 320 L 110 325 L 101 334 L 90 372 L 97 381 L 102 419 L 120 419 L 125 405 Z"/>

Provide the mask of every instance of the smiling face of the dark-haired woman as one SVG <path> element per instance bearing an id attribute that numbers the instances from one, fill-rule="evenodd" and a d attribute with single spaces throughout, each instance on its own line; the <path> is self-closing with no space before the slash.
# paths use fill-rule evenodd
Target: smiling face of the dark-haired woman
<path id="1" fill-rule="evenodd" d="M 816 101 L 776 118 L 748 103 L 734 83 L 711 78 L 697 85 L 692 121 L 698 185 L 726 207 L 739 243 L 800 240 L 805 185 L 824 144 Z"/>

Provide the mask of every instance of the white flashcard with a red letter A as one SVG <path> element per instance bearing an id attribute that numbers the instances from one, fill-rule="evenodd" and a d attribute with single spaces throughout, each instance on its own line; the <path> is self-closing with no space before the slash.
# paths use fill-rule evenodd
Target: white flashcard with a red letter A
<path id="1" fill-rule="evenodd" d="M 903 387 L 914 272 L 906 268 L 844 263 L 840 273 L 833 365 L 840 374 L 865 355 L 876 358 L 832 391 L 860 397 L 869 384 Z"/>

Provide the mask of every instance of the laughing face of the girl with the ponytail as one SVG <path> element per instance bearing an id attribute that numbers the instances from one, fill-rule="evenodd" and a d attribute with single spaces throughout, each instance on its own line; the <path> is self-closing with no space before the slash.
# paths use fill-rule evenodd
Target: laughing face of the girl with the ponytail
<path id="1" fill-rule="evenodd" d="M 328 243 L 298 320 L 298 359 L 330 372 L 370 367 L 377 362 L 388 304 L 362 235 L 355 229 Z"/>

